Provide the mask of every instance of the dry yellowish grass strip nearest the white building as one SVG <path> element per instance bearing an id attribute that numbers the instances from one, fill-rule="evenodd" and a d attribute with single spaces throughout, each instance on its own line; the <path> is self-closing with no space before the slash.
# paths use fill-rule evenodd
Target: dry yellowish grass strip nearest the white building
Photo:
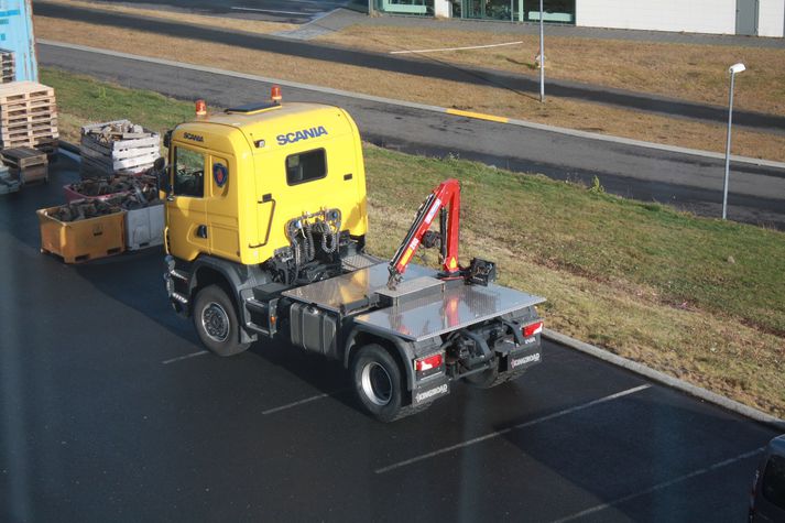
<path id="1" fill-rule="evenodd" d="M 785 115 L 785 50 L 564 36 L 546 39 L 546 70 L 550 78 L 716 105 L 728 102 L 728 66 L 743 62 L 749 70 L 738 78 L 734 103 L 743 109 Z M 421 28 L 355 25 L 319 40 L 380 52 L 522 41 L 514 46 L 419 56 L 530 75 L 536 74 L 534 57 L 539 52 L 537 36 Z"/>

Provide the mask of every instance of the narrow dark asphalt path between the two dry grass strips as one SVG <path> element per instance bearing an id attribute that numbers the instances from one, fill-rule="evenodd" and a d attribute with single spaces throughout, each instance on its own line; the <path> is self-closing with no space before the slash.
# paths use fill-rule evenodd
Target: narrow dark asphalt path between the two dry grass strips
<path id="1" fill-rule="evenodd" d="M 207 30 L 205 28 L 172 21 L 74 8 L 47 3 L 45 1 L 39 1 L 35 4 L 35 13 L 107 26 L 123 29 L 132 26 L 139 31 L 153 34 L 167 34 L 170 36 L 179 36 L 189 40 L 222 43 L 240 48 L 266 51 L 283 56 L 298 56 L 323 62 L 375 68 L 391 73 L 403 73 L 465 84 L 493 86 L 519 92 L 522 96 L 532 96 L 532 94 L 539 92 L 539 83 L 535 76 L 515 75 L 497 69 L 457 66 L 440 62 L 433 56 L 419 59 L 329 45 L 323 42 L 312 43 L 274 35 L 231 32 L 219 29 Z M 548 80 L 547 89 L 550 96 L 556 97 L 606 103 L 613 107 L 675 118 L 688 118 L 719 123 L 727 123 L 728 121 L 728 110 L 726 107 L 707 106 L 663 96 L 566 80 Z M 766 132 L 785 133 L 785 117 L 783 116 L 734 110 L 733 121 L 737 126 L 749 127 Z"/>

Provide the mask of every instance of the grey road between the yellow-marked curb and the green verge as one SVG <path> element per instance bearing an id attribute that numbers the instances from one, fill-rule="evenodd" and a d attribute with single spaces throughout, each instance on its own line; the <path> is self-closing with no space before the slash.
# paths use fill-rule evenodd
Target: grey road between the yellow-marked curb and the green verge
<path id="1" fill-rule="evenodd" d="M 123 86 L 176 98 L 206 98 L 212 106 L 259 101 L 269 85 L 97 53 L 39 45 L 42 65 L 63 67 Z M 641 200 L 676 205 L 708 216 L 721 214 L 723 162 L 564 134 L 402 108 L 386 103 L 285 89 L 285 99 L 346 107 L 366 140 L 433 155 L 457 154 L 514 171 L 544 173 Z M 785 171 L 732 165 L 729 217 L 785 229 Z"/>

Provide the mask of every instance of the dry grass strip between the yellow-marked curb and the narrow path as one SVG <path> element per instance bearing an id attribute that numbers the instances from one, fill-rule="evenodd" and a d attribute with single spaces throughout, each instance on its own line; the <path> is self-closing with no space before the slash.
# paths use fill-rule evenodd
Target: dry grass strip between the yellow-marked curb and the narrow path
<path id="1" fill-rule="evenodd" d="M 722 124 L 698 123 L 628 111 L 596 103 L 550 98 L 543 106 L 535 98 L 506 89 L 424 79 L 350 65 L 238 50 L 223 44 L 194 42 L 160 35 L 154 40 L 132 30 L 102 28 L 45 17 L 35 18 L 40 37 L 116 51 L 211 65 L 282 79 L 328 86 L 457 109 L 489 112 L 571 129 L 588 130 L 657 143 L 707 151 L 723 151 Z M 785 135 L 738 129 L 733 153 L 785 161 Z"/>

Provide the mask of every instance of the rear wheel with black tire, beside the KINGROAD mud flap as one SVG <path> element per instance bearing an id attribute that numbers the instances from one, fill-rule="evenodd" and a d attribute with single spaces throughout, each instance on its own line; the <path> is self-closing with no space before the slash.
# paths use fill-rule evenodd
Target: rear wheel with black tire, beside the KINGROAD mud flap
<path id="1" fill-rule="evenodd" d="M 373 417 L 385 423 L 402 417 L 403 375 L 384 347 L 377 344 L 361 347 L 352 360 L 351 375 L 357 397 Z"/>

